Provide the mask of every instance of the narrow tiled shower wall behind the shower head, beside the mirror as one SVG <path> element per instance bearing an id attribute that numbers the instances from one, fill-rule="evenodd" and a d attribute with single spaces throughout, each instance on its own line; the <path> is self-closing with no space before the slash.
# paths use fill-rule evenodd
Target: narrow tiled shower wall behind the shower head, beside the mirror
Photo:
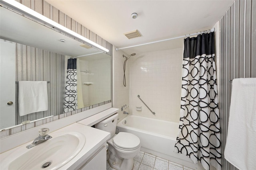
<path id="1" fill-rule="evenodd" d="M 116 49 L 116 47 L 114 47 Z M 124 76 L 124 61 L 125 58 L 123 55 L 128 56 L 121 50 L 114 50 L 113 52 L 113 107 L 120 109 L 118 112 L 118 122 L 121 121 L 126 114 L 123 114 L 123 111 L 129 113 L 129 63 L 130 59 L 126 63 L 126 87 L 123 85 L 123 76 Z M 134 56 L 136 57 L 136 56 Z M 127 106 L 126 109 L 121 111 L 122 106 Z"/>

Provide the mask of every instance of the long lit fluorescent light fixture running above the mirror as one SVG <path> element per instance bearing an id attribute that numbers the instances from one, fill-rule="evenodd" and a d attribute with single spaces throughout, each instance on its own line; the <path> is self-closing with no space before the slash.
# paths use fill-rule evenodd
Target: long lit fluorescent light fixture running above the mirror
<path id="1" fill-rule="evenodd" d="M 42 23 L 46 24 L 46 25 L 50 25 L 52 27 L 54 27 L 55 29 L 58 29 L 61 32 L 67 33 L 69 35 L 72 35 L 73 37 L 84 41 L 86 43 L 88 43 L 88 45 L 91 45 L 92 47 L 95 47 L 96 49 L 99 49 L 100 51 L 104 51 L 104 52 L 109 52 L 108 49 L 102 47 L 101 45 L 98 45 L 97 43 L 94 43 L 93 41 L 91 41 L 90 39 L 87 39 L 86 37 L 83 37 L 82 35 L 79 35 L 78 33 L 60 25 L 59 23 L 56 23 L 53 20 L 50 20 L 49 18 L 39 14 L 38 12 L 20 4 L 19 2 L 16 2 L 15 0 L 0 0 L 1 3 L 6 4 L 7 6 L 11 7 L 11 8 L 15 8 L 16 10 L 27 14 L 28 16 L 35 18 L 36 20 L 41 21 Z"/>

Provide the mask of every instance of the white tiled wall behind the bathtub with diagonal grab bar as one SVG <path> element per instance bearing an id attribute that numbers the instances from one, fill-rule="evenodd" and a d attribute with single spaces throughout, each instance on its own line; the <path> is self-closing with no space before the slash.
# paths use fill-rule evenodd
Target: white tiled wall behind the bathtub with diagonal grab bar
<path id="1" fill-rule="evenodd" d="M 154 51 L 130 58 L 127 63 L 131 114 L 179 122 L 182 51 L 182 48 Z M 155 115 L 139 100 L 138 94 Z M 142 111 L 137 111 L 136 106 L 142 106 Z"/>

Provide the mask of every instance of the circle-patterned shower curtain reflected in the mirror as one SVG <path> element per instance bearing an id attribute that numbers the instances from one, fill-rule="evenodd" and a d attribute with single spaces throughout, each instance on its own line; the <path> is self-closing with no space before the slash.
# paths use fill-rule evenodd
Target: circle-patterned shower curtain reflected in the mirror
<path id="1" fill-rule="evenodd" d="M 64 113 L 77 109 L 76 59 L 68 59 Z"/>

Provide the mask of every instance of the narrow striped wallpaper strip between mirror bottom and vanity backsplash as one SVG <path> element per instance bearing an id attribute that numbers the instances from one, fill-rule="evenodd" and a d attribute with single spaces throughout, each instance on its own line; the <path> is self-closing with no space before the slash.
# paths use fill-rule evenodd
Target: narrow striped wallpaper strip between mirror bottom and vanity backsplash
<path id="1" fill-rule="evenodd" d="M 32 123 L 27 123 L 25 125 L 21 125 L 21 126 L 14 127 L 14 128 L 11 128 L 11 129 L 2 130 L 2 131 L 0 131 L 0 139 L 4 138 L 4 137 L 7 137 L 9 135 L 14 135 L 16 133 L 20 133 L 22 131 L 26 131 L 28 129 L 31 129 L 31 128 L 34 128 L 34 127 L 37 127 L 37 126 L 40 126 L 40 125 L 44 125 L 46 123 L 50 123 L 52 121 L 56 121 L 56 120 L 64 118 L 64 117 L 75 115 L 76 113 L 80 113 L 82 111 L 86 111 L 86 110 L 89 110 L 89 109 L 92 109 L 92 108 L 95 108 L 95 107 L 99 107 L 99 106 L 102 106 L 102 105 L 108 104 L 108 103 L 111 103 L 111 100 L 108 100 L 106 102 L 101 102 L 101 103 L 98 103 L 98 104 L 94 104 L 92 106 L 84 107 L 82 109 L 77 109 L 77 110 L 74 110 L 74 111 L 70 111 L 70 112 L 67 112 L 67 113 L 56 115 L 56 116 L 53 116 L 53 117 L 48 117 L 46 119 L 42 119 L 42 120 L 39 120 L 39 121 L 34 121 Z"/>

